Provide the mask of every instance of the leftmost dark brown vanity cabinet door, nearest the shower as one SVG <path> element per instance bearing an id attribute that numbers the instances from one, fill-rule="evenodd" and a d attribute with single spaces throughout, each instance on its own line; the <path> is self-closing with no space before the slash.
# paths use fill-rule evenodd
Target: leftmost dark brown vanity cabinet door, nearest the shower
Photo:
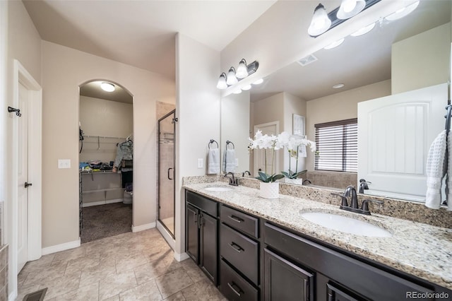
<path id="1" fill-rule="evenodd" d="M 195 208 L 194 206 L 191 206 L 189 203 L 186 204 L 185 209 L 185 249 L 186 254 L 189 254 L 189 256 L 196 262 L 196 264 L 199 264 L 199 228 L 198 228 L 198 217 L 199 216 L 199 210 Z"/>

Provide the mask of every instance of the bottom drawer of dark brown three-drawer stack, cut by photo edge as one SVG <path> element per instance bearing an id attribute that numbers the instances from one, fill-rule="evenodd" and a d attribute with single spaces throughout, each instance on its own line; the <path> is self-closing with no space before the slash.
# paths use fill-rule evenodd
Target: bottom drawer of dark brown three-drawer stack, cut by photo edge
<path id="1" fill-rule="evenodd" d="M 227 300 L 257 301 L 258 291 L 225 261 L 221 261 L 221 293 Z"/>

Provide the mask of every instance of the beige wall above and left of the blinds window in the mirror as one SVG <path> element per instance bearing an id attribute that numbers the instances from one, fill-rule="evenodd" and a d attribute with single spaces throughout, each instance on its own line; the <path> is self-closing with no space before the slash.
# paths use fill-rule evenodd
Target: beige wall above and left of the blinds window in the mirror
<path id="1" fill-rule="evenodd" d="M 306 131 L 309 140 L 315 140 L 314 124 L 357 118 L 357 103 L 391 95 L 391 80 L 364 85 L 341 93 L 307 102 Z M 314 170 L 314 154 L 307 154 L 307 170 Z"/>

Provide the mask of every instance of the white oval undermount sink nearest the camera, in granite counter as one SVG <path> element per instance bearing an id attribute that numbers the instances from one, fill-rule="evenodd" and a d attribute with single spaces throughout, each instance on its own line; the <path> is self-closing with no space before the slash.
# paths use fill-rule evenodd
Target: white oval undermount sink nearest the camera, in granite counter
<path id="1" fill-rule="evenodd" d="M 380 228 L 379 226 L 367 223 L 364 220 L 356 218 L 349 218 L 347 216 L 340 216 L 333 213 L 324 212 L 306 212 L 301 216 L 312 223 L 322 225 L 323 227 L 340 232 L 369 236 L 369 237 L 391 237 L 392 234 L 388 230 Z"/>

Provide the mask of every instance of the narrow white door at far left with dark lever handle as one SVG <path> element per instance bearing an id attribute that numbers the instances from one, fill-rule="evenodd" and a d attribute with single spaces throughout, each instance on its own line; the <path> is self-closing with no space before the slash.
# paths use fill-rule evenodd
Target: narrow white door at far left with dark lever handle
<path id="1" fill-rule="evenodd" d="M 28 90 L 19 83 L 18 117 L 18 272 L 28 259 Z"/>

